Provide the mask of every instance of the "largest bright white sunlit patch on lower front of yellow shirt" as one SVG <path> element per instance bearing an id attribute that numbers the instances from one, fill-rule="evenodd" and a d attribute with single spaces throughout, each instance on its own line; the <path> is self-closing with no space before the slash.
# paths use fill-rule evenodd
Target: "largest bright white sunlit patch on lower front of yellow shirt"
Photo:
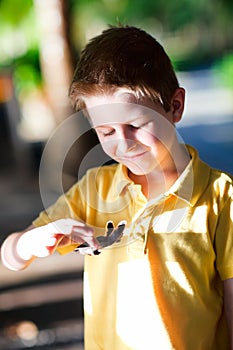
<path id="1" fill-rule="evenodd" d="M 148 261 L 138 259 L 120 264 L 116 328 L 127 346 L 135 350 L 154 350 L 155 344 L 158 349 L 170 348 L 165 325 L 156 308 Z"/>

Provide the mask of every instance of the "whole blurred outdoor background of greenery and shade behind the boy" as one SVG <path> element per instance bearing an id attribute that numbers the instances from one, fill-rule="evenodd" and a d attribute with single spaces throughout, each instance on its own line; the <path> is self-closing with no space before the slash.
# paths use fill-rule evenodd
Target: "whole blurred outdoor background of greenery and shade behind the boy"
<path id="1" fill-rule="evenodd" d="M 44 146 L 74 112 L 67 94 L 81 49 L 109 24 L 139 26 L 164 45 L 187 91 L 179 134 L 203 160 L 233 174 L 232 15 L 231 0 L 0 0 L 0 244 L 43 209 Z M 64 161 L 65 190 L 97 144 L 86 136 Z M 49 153 L 51 202 L 68 137 Z M 1 349 L 83 349 L 82 266 L 75 254 L 54 254 L 20 273 L 0 264 Z"/>

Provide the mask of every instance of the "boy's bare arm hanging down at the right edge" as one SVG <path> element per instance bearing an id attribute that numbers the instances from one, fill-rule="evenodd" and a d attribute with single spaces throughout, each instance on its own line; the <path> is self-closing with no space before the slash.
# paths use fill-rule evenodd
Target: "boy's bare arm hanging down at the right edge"
<path id="1" fill-rule="evenodd" d="M 233 278 L 224 281 L 224 309 L 230 332 L 230 349 L 233 350 Z"/>

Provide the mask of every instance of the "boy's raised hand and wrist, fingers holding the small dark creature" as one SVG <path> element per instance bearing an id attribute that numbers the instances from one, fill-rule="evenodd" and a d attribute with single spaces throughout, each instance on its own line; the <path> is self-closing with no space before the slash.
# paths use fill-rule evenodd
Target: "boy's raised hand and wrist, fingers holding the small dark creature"
<path id="1" fill-rule="evenodd" d="M 22 259 L 30 260 L 47 257 L 58 246 L 84 242 L 93 249 L 99 247 L 91 227 L 74 219 L 60 219 L 24 232 L 18 240 L 17 253 Z"/>

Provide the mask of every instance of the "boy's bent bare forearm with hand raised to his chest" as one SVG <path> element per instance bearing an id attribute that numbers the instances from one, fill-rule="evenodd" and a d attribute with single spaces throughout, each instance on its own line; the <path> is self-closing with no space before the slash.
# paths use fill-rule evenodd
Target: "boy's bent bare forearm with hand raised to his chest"
<path id="1" fill-rule="evenodd" d="M 94 231 L 84 223 L 73 219 L 59 219 L 40 227 L 12 233 L 1 247 L 2 263 L 13 271 L 23 270 L 37 257 L 47 257 L 59 245 L 87 242 L 94 249 L 99 243 Z"/>

